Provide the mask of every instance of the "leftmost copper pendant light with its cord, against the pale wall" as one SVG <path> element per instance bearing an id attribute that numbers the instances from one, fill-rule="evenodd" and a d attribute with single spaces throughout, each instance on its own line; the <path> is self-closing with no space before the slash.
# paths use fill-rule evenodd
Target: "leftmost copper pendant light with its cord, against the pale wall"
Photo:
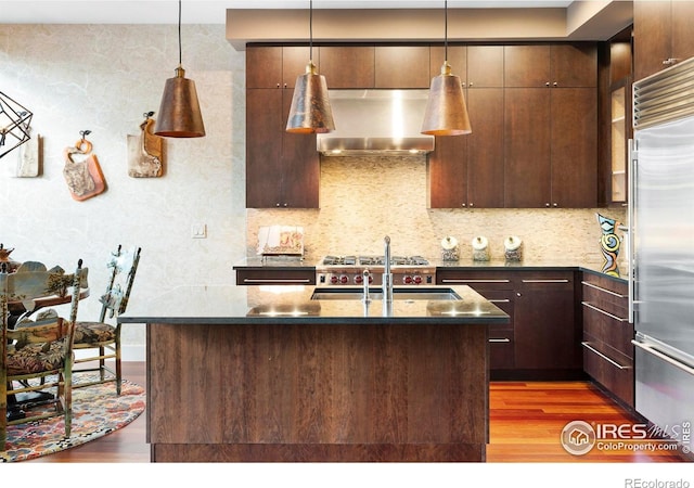
<path id="1" fill-rule="evenodd" d="M 178 67 L 176 77 L 166 80 L 154 133 L 165 138 L 201 138 L 205 136 L 195 81 L 185 78 L 181 64 L 181 0 L 178 0 Z"/>

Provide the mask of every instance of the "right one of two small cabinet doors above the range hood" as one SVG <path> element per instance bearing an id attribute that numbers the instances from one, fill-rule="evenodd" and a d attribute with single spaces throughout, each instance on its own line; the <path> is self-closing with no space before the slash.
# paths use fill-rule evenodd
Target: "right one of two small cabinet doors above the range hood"
<path id="1" fill-rule="evenodd" d="M 376 88 L 429 88 L 428 46 L 376 46 Z"/>

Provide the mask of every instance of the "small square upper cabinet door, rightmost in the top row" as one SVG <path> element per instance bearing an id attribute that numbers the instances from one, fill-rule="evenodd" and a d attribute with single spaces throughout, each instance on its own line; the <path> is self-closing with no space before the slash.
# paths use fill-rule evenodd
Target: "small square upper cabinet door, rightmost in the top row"
<path id="1" fill-rule="evenodd" d="M 597 86 L 597 49 L 591 44 L 553 44 L 550 84 L 557 88 Z"/>

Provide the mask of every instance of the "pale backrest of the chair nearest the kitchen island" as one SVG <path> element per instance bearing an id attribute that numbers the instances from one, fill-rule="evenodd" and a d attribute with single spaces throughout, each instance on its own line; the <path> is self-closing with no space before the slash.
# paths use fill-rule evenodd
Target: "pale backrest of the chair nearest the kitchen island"
<path id="1" fill-rule="evenodd" d="M 111 279 L 106 293 L 99 299 L 102 304 L 100 322 L 105 320 L 106 314 L 110 318 L 114 318 L 126 311 L 134 275 L 138 271 L 141 251 L 141 247 L 124 249 L 123 245 L 119 245 L 111 254 L 111 259 L 106 264 L 111 268 Z"/>

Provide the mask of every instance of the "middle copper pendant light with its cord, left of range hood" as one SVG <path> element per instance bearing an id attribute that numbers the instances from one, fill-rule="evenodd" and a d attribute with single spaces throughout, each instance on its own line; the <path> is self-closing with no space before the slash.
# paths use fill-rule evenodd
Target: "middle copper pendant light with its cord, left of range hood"
<path id="1" fill-rule="evenodd" d="M 313 64 L 313 0 L 309 10 L 309 61 L 306 73 L 296 78 L 286 131 L 293 133 L 324 133 L 335 130 L 333 111 L 327 97 L 325 77 Z"/>

